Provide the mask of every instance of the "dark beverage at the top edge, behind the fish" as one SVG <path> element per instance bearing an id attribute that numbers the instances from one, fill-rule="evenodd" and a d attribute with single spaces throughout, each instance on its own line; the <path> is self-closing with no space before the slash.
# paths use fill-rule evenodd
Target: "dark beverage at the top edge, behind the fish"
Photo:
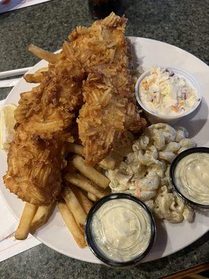
<path id="1" fill-rule="evenodd" d="M 117 13 L 121 0 L 88 0 L 88 8 L 93 20 L 107 17 L 111 12 Z"/>

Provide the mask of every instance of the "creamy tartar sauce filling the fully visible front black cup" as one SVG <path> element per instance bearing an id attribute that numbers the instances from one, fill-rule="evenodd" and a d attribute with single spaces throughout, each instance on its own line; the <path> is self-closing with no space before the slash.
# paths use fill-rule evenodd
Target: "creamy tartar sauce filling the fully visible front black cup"
<path id="1" fill-rule="evenodd" d="M 113 199 L 95 212 L 91 231 L 105 257 L 116 262 L 128 262 L 148 248 L 150 217 L 142 206 L 130 199 Z"/>

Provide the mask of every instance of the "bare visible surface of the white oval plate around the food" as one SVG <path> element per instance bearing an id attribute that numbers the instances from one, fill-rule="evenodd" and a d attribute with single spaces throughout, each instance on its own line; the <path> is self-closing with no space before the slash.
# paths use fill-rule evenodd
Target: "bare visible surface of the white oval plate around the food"
<path id="1" fill-rule="evenodd" d="M 192 54 L 180 50 L 180 48 L 174 47 L 173 45 L 147 38 L 130 37 L 130 40 L 132 42 L 132 52 L 134 51 L 134 63 L 139 63 L 141 72 L 153 66 L 169 66 L 173 68 L 182 68 L 194 75 L 201 86 L 203 100 L 196 112 L 194 112 L 192 116 L 190 115 L 189 118 L 183 119 L 178 125 L 185 126 L 185 128 L 189 130 L 190 137 L 194 138 L 198 146 L 209 146 L 209 67 Z M 45 67 L 46 64 L 45 61 L 40 61 L 29 73 L 33 73 L 39 68 Z M 20 93 L 31 90 L 33 86 L 36 86 L 36 84 L 28 84 L 22 78 L 6 98 L 6 104 L 17 104 L 20 99 Z M 17 199 L 14 194 L 10 194 L 3 186 L 2 181 L 2 176 L 7 169 L 6 152 L 1 151 L 0 159 L 1 192 L 10 211 L 19 219 L 23 209 L 23 202 Z M 173 252 L 185 248 L 185 246 L 199 239 L 199 237 L 205 234 L 209 229 L 208 217 L 206 213 L 196 212 L 194 223 L 157 223 L 155 245 L 144 262 L 171 255 Z M 64 255 L 86 262 L 100 263 L 88 248 L 80 249 L 77 246 L 57 210 L 54 211 L 48 223 L 41 227 L 34 236 L 42 243 L 45 243 L 45 245 Z"/>

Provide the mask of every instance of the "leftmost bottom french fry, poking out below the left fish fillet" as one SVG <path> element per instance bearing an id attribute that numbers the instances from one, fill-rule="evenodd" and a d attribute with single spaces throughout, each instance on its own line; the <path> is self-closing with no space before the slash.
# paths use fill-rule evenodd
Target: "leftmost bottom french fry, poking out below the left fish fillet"
<path id="1" fill-rule="evenodd" d="M 31 222 L 36 214 L 37 206 L 26 202 L 20 218 L 20 223 L 15 232 L 15 239 L 23 240 L 29 235 Z"/>

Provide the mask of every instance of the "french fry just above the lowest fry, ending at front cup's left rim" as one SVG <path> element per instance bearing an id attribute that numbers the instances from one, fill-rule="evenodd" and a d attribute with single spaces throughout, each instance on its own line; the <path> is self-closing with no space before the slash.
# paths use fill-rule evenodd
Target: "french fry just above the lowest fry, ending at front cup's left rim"
<path id="1" fill-rule="evenodd" d="M 63 199 L 65 199 L 65 203 L 72 212 L 77 225 L 83 231 L 86 222 L 86 212 L 82 208 L 77 197 L 72 192 L 69 186 L 65 186 L 65 188 L 63 188 L 63 190 L 61 191 L 61 195 L 63 196 Z"/>

